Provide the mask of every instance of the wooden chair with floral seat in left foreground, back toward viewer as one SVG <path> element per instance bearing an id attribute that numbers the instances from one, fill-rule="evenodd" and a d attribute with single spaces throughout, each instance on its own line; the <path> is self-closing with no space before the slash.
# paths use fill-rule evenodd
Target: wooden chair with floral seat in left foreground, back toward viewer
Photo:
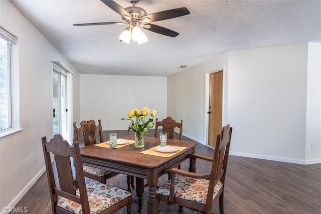
<path id="1" fill-rule="evenodd" d="M 60 134 L 54 135 L 50 142 L 46 137 L 41 140 L 52 213 L 109 214 L 124 206 L 127 206 L 127 214 L 131 213 L 132 196 L 129 191 L 97 181 L 86 185 L 78 141 L 71 146 Z M 51 161 L 51 153 L 54 162 Z M 77 177 L 73 175 L 72 165 Z"/>

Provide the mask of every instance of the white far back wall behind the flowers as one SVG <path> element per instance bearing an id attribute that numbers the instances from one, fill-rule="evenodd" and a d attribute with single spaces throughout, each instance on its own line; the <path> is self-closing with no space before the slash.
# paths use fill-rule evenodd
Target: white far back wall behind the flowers
<path id="1" fill-rule="evenodd" d="M 167 77 L 80 75 L 80 120 L 101 119 L 103 130 L 127 130 L 127 112 L 135 107 L 167 116 Z M 97 122 L 98 124 L 98 122 Z"/>

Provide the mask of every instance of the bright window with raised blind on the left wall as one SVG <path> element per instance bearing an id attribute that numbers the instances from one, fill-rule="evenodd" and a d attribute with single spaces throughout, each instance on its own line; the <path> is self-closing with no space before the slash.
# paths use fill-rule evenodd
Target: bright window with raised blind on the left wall
<path id="1" fill-rule="evenodd" d="M 0 130 L 12 127 L 11 47 L 17 38 L 0 26 Z"/>

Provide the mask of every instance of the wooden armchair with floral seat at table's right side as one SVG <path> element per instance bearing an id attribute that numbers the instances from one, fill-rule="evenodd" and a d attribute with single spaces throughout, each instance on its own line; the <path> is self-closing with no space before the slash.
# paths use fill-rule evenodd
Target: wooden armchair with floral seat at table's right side
<path id="1" fill-rule="evenodd" d="M 171 180 L 156 190 L 159 201 L 179 204 L 179 211 L 183 206 L 196 209 L 198 213 L 210 214 L 215 202 L 219 199 L 220 213 L 224 214 L 224 186 L 227 161 L 231 145 L 232 127 L 226 125 L 217 135 L 214 157 L 193 154 L 194 163 L 196 158 L 212 162 L 209 174 L 188 172 L 177 168 L 166 169 L 170 173 Z"/>

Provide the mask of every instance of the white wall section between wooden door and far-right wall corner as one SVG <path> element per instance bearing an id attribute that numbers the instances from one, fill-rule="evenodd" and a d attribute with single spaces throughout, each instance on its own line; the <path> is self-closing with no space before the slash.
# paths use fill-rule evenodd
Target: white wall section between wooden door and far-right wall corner
<path id="1" fill-rule="evenodd" d="M 306 72 L 307 43 L 230 52 L 232 152 L 304 161 Z"/>

